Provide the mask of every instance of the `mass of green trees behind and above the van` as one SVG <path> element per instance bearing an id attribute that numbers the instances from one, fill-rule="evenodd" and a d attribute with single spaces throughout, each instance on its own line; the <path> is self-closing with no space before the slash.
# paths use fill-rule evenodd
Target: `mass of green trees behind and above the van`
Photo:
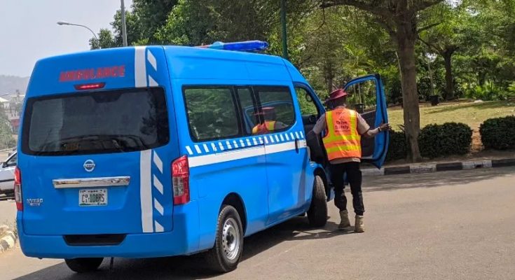
<path id="1" fill-rule="evenodd" d="M 418 103 L 430 94 L 515 94 L 515 0 L 285 1 L 291 62 L 322 99 L 380 73 L 388 103 L 404 108 L 411 160 L 420 159 Z M 282 53 L 278 0 L 135 0 L 126 15 L 130 45 L 263 40 Z M 118 11 L 91 47 L 122 45 L 120 19 Z"/>

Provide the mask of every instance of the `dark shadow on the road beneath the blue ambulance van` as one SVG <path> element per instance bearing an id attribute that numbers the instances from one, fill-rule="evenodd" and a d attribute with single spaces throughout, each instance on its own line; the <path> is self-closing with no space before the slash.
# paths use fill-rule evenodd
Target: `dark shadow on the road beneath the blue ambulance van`
<path id="1" fill-rule="evenodd" d="M 258 232 L 245 239 L 245 251 L 242 261 L 249 260 L 269 248 L 285 241 L 325 239 L 338 235 L 354 233 L 353 228 L 348 231 L 338 231 L 336 223 L 328 221 L 324 228 L 313 229 L 308 225 L 306 217 L 296 217 L 276 225 L 273 228 Z M 201 254 L 170 258 L 149 259 L 123 259 L 115 258 L 114 268 L 109 270 L 109 259 L 105 259 L 100 270 L 89 274 L 74 274 L 61 263 L 32 274 L 18 278 L 18 280 L 41 279 L 210 279 L 219 274 L 210 272 L 205 265 Z"/>

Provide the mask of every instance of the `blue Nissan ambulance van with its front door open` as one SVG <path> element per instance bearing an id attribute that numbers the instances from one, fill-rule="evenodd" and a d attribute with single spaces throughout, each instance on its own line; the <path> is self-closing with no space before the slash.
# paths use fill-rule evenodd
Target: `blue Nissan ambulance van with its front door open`
<path id="1" fill-rule="evenodd" d="M 250 52 L 265 47 L 137 46 L 39 60 L 15 170 L 23 253 L 88 272 L 103 258 L 203 252 L 228 272 L 244 237 L 305 213 L 325 225 L 327 162 L 309 133 L 324 106 L 287 60 Z M 366 80 L 376 83 L 367 118 L 376 126 L 387 120 L 379 76 L 348 85 Z M 369 146 L 364 158 L 380 167 L 387 134 Z"/>

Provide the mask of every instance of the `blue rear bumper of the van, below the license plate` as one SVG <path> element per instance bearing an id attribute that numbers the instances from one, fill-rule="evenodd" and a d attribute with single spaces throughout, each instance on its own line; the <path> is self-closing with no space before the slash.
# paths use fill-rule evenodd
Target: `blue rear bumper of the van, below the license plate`
<path id="1" fill-rule="evenodd" d="M 193 204 L 193 205 L 192 205 Z M 195 209 L 195 211 L 191 211 Z M 126 235 L 118 245 L 70 246 L 62 235 L 26 235 L 22 212 L 18 232 L 22 252 L 34 258 L 157 258 L 198 252 L 198 212 L 195 202 L 174 209 L 174 230 Z"/>

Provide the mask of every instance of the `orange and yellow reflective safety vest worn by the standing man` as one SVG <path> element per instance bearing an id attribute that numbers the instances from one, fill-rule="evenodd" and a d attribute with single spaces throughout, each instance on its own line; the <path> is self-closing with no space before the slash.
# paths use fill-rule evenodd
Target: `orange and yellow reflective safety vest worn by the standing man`
<path id="1" fill-rule="evenodd" d="M 361 158 L 361 135 L 357 132 L 357 112 L 334 109 L 325 113 L 327 132 L 322 139 L 329 160 Z"/>

